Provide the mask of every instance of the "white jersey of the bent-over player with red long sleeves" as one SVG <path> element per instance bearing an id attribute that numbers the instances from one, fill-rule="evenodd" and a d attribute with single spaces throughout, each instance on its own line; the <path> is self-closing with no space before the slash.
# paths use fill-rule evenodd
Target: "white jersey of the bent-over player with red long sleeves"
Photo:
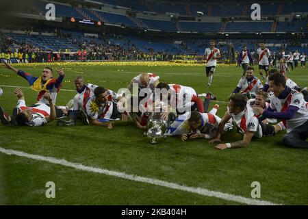
<path id="1" fill-rule="evenodd" d="M 197 96 L 196 91 L 193 88 L 178 84 L 169 84 L 169 87 L 172 90 L 170 99 L 171 107 L 177 109 L 179 112 L 190 111 L 192 105 L 194 105 L 192 98 L 193 96 Z"/>

